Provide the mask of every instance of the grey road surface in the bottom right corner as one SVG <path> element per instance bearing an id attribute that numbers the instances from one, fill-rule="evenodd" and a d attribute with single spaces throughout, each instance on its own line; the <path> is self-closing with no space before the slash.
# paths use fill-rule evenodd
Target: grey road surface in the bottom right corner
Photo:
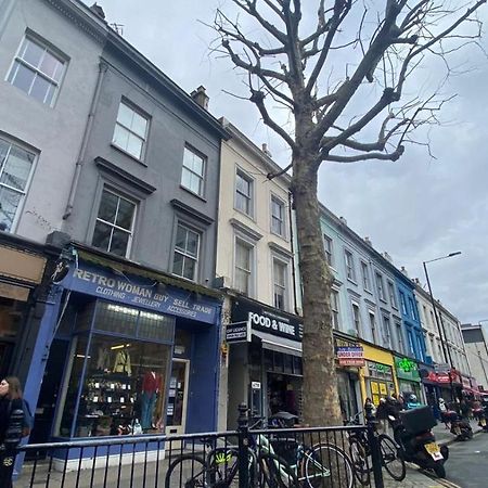
<path id="1" fill-rule="evenodd" d="M 446 463 L 447 479 L 462 488 L 488 487 L 488 434 L 480 433 L 472 440 L 449 446 Z"/>

